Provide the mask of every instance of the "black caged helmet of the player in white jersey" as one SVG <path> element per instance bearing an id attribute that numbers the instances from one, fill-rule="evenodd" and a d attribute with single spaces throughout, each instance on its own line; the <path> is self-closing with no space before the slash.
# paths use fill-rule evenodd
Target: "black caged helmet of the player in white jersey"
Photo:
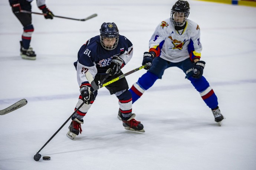
<path id="1" fill-rule="evenodd" d="M 189 10 L 190 7 L 188 1 L 178 0 L 171 9 L 171 21 L 173 22 L 173 24 L 175 26 L 182 26 L 188 17 Z M 177 18 L 175 17 L 182 17 L 183 19 L 177 20 Z"/>

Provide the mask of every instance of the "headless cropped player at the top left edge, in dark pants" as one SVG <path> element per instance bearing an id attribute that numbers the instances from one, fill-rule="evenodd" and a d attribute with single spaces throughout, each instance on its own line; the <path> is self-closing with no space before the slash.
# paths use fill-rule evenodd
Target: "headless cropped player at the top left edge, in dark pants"
<path id="1" fill-rule="evenodd" d="M 30 40 L 34 27 L 32 24 L 31 14 L 22 13 L 21 10 L 31 11 L 31 2 L 33 0 L 9 0 L 12 6 L 12 11 L 14 15 L 18 18 L 23 26 L 22 41 L 20 41 L 20 56 L 23 59 L 36 59 L 35 51 L 30 47 Z M 46 5 L 45 0 L 36 0 L 37 6 L 43 13 L 45 13 L 46 19 L 53 19 L 53 13 L 50 11 Z"/>

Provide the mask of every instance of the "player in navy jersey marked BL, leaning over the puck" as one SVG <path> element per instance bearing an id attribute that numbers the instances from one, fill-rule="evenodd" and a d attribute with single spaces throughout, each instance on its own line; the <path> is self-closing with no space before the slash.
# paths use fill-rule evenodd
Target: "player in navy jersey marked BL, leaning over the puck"
<path id="1" fill-rule="evenodd" d="M 100 28 L 100 35 L 89 39 L 82 45 L 78 51 L 78 61 L 74 63 L 77 71 L 77 80 L 80 87 L 80 93 L 76 108 L 78 108 L 85 100 L 88 104 L 83 106 L 72 117 L 67 136 L 74 139 L 79 132 L 82 132 L 81 124 L 83 117 L 91 108 L 95 101 L 98 91 L 94 91 L 89 83 L 89 78 L 98 85 L 107 72 L 111 72 L 106 78 L 106 82 L 122 75 L 121 68 L 124 67 L 131 59 L 133 46 L 131 41 L 126 37 L 119 35 L 118 28 L 115 23 L 103 23 Z M 134 119 L 135 114 L 132 113 L 132 95 L 128 90 L 128 83 L 125 78 L 119 79 L 105 86 L 110 94 L 115 94 L 119 100 L 119 112 L 121 112 L 122 124 L 127 130 L 145 132 L 143 125 Z"/>

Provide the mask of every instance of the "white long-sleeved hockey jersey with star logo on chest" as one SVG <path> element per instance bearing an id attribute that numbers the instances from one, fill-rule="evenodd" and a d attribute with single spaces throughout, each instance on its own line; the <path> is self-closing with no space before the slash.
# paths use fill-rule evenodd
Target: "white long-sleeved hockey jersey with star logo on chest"
<path id="1" fill-rule="evenodd" d="M 177 31 L 170 18 L 162 21 L 155 29 L 149 42 L 149 51 L 170 62 L 180 62 L 201 57 L 200 28 L 191 20 L 186 27 Z"/>

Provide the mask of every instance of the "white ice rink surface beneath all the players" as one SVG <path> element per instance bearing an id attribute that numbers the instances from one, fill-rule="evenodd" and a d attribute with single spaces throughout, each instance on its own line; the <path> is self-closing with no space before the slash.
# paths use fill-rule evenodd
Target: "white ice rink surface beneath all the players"
<path id="1" fill-rule="evenodd" d="M 70 121 L 36 152 L 74 112 L 79 86 L 73 62 L 81 45 L 115 22 L 134 45 L 122 69 L 140 67 L 155 27 L 170 16 L 176 0 L 46 0 L 55 15 L 85 18 L 45 20 L 33 15 L 35 61 L 21 59 L 23 28 L 8 1 L 0 2 L 0 110 L 20 99 L 23 108 L 0 116 L 1 170 L 255 170 L 256 8 L 189 0 L 189 19 L 200 26 L 204 76 L 226 117 L 222 126 L 178 68 L 134 103 L 145 133 L 129 132 L 116 118 L 118 99 L 102 88 L 84 118 L 83 132 L 66 137 Z M 40 12 L 36 1 L 32 10 Z M 146 72 L 127 76 L 129 86 Z"/>

